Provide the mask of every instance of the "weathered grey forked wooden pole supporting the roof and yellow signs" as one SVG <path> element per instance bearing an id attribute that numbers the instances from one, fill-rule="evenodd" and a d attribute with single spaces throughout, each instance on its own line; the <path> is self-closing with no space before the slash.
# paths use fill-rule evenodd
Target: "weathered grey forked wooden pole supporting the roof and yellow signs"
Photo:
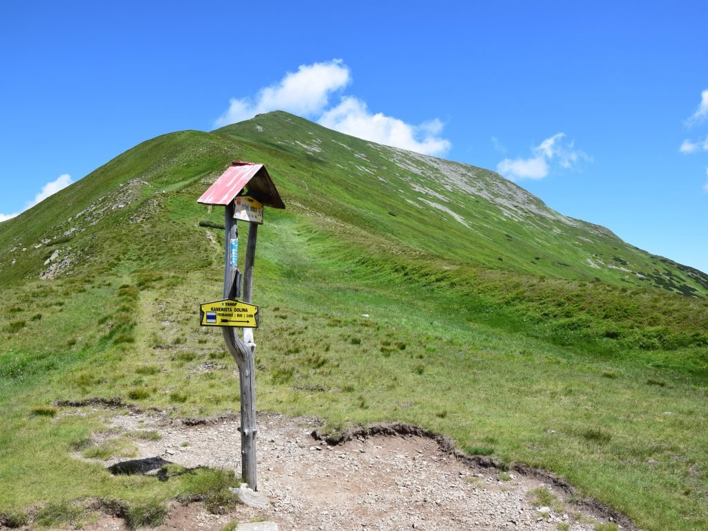
<path id="1" fill-rule="evenodd" d="M 224 229 L 226 243 L 224 244 L 224 299 L 235 299 L 240 292 L 240 275 L 232 260 L 232 239 L 238 239 L 239 230 L 234 219 L 234 203 L 231 202 L 224 208 Z M 251 231 L 249 230 L 249 249 L 251 243 Z M 253 238 L 253 250 L 250 255 L 246 253 L 246 263 L 251 256 L 251 274 L 248 275 L 249 299 L 251 302 L 251 283 L 253 282 L 253 258 L 255 256 L 256 239 Z M 248 272 L 249 269 L 246 269 Z M 244 279 L 246 280 L 246 279 Z M 245 286 L 244 286 L 245 287 Z M 244 290 L 245 291 L 245 290 Z M 244 295 L 246 293 L 244 292 Z M 251 329 L 244 330 L 244 340 L 241 341 L 236 329 L 231 326 L 224 326 L 224 341 L 226 341 L 229 352 L 236 360 L 239 367 L 239 387 L 241 388 L 241 475 L 244 481 L 253 489 L 258 490 L 258 480 L 256 476 L 256 361 L 254 352 L 256 344 L 253 343 L 253 332 Z M 246 338 L 246 336 L 249 336 Z M 249 341 L 250 340 L 250 341 Z"/>

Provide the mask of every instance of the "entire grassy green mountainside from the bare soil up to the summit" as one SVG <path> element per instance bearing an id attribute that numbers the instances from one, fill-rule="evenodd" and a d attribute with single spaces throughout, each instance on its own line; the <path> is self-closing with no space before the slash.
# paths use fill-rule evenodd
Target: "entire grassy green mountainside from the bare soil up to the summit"
<path id="1" fill-rule="evenodd" d="M 258 236 L 258 409 L 416 423 L 646 529 L 708 529 L 708 275 L 491 171 L 281 112 L 149 140 L 0 224 L 0 514 L 219 484 L 76 459 L 132 442 L 87 446 L 99 413 L 52 404 L 238 411 L 222 337 L 198 326 L 224 236 L 196 200 L 232 160 L 265 164 L 287 205 Z"/>

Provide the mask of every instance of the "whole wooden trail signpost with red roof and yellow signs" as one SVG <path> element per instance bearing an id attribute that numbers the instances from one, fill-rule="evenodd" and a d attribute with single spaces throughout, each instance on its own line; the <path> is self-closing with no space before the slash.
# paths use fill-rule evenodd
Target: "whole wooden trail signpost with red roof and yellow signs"
<path id="1" fill-rule="evenodd" d="M 244 188 L 248 193 L 244 195 Z M 224 206 L 224 292 L 223 300 L 200 305 L 202 326 L 221 326 L 229 352 L 239 367 L 241 387 L 241 473 L 253 491 L 256 478 L 256 343 L 253 329 L 258 326 L 258 307 L 251 304 L 253 263 L 256 260 L 258 225 L 263 223 L 263 205 L 285 208 L 263 164 L 234 162 L 198 202 Z M 239 229 L 237 220 L 249 223 L 249 239 L 244 261 L 243 296 L 238 269 Z M 237 300 L 241 297 L 241 300 Z M 239 337 L 238 330 L 241 329 Z"/>

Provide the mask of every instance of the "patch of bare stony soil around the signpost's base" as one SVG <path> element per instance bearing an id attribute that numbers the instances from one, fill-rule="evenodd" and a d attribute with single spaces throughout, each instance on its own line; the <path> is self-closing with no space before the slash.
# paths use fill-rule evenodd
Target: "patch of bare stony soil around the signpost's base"
<path id="1" fill-rule="evenodd" d="M 440 435 L 405 425 L 350 432 L 339 444 L 314 438 L 311 418 L 258 414 L 258 491 L 265 509 L 239 506 L 227 515 L 201 503 L 173 503 L 166 530 L 220 530 L 231 520 L 270 520 L 290 530 L 572 530 L 593 531 L 618 515 L 569 503 L 568 486 L 524 469 L 501 472 L 489 459 L 456 454 Z M 239 421 L 174 421 L 161 413 L 132 411 L 110 418 L 112 435 L 156 430 L 161 440 L 139 440 L 137 459 L 184 467 L 233 469 L 240 474 Z M 402 426 L 402 427 L 401 427 Z M 105 464 L 110 467 L 120 459 Z M 119 465 L 120 466 L 120 465 Z M 146 473 L 157 467 L 146 466 Z M 549 489 L 556 501 L 535 506 L 533 489 Z M 619 520 L 618 520 L 619 518 Z M 89 531 L 127 529 L 103 514 Z"/>

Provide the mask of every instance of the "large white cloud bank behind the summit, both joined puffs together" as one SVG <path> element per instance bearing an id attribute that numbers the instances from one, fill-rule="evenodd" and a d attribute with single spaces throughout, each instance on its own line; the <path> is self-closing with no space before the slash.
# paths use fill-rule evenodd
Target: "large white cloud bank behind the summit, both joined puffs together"
<path id="1" fill-rule="evenodd" d="M 372 113 L 365 101 L 354 96 L 341 96 L 330 105 L 333 93 L 342 91 L 351 80 L 349 68 L 341 59 L 303 64 L 297 72 L 285 74 L 278 83 L 261 89 L 254 97 L 232 98 L 229 108 L 214 125 L 222 127 L 258 113 L 287 110 L 379 144 L 428 155 L 442 155 L 450 149 L 450 141 L 440 137 L 445 124 L 438 118 L 419 125 L 409 124 L 384 113 Z"/>

